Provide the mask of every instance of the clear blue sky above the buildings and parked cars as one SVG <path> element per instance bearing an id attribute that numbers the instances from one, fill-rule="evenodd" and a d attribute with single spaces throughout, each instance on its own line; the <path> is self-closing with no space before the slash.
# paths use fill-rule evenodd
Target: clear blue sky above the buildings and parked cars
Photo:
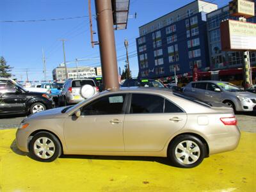
<path id="1" fill-rule="evenodd" d="M 104 0 L 102 0 L 104 1 Z M 218 7 L 228 4 L 227 0 L 208 0 Z M 129 61 L 132 77 L 138 76 L 136 38 L 139 27 L 158 17 L 172 12 L 193 0 L 130 0 L 127 29 L 115 31 L 118 67 L 125 65 L 125 38 L 129 41 Z M 0 0 L 0 56 L 12 68 L 18 80 L 44 80 L 42 49 L 45 52 L 47 80 L 52 80 L 52 70 L 63 62 L 61 39 L 65 39 L 67 61 L 76 58 L 93 59 L 80 61 L 79 66 L 100 66 L 99 45 L 92 48 L 88 18 L 88 0 Z M 136 13 L 137 17 L 134 17 Z M 92 14 L 95 15 L 92 0 Z M 64 19 L 79 17 L 76 19 Z M 36 22 L 8 22 L 19 20 L 47 20 Z M 93 17 L 93 30 L 97 22 Z M 98 36 L 93 36 L 98 40 Z M 74 67 L 75 64 L 68 64 Z"/>

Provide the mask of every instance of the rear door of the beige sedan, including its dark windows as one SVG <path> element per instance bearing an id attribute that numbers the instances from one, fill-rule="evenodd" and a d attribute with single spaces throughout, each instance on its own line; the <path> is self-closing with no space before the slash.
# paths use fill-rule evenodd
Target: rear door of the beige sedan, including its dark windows
<path id="1" fill-rule="evenodd" d="M 170 137 L 184 127 L 186 119 L 186 113 L 164 97 L 132 93 L 124 122 L 125 151 L 163 150 Z"/>

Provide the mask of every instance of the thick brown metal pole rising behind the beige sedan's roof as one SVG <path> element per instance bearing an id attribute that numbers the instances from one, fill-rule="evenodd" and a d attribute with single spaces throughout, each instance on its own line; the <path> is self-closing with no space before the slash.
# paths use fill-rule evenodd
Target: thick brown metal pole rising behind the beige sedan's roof
<path id="1" fill-rule="evenodd" d="M 104 90 L 118 89 L 115 36 L 111 0 L 95 0 Z"/>

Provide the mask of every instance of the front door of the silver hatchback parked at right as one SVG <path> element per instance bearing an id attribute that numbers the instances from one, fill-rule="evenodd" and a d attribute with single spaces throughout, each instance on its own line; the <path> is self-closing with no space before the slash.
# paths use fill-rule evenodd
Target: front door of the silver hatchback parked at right
<path id="1" fill-rule="evenodd" d="M 205 101 L 222 102 L 220 87 L 218 87 L 214 83 L 207 83 L 207 90 L 205 91 Z"/>

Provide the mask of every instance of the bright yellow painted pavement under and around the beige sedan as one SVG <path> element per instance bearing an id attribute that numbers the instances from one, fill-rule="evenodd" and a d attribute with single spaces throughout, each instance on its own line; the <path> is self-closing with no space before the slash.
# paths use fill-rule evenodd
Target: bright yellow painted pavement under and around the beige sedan
<path id="1" fill-rule="evenodd" d="M 256 191 L 256 133 L 242 132 L 236 150 L 182 169 L 157 157 L 64 156 L 40 163 L 17 149 L 15 131 L 0 131 L 0 191 Z"/>

